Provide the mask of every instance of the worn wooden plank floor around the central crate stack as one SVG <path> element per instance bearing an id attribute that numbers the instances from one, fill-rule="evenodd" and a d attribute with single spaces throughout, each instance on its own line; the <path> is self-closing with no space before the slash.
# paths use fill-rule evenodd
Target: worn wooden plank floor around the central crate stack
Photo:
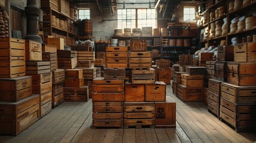
<path id="1" fill-rule="evenodd" d="M 254 142 L 256 133 L 236 133 L 206 110 L 202 102 L 177 102 L 177 128 L 91 129 L 92 101 L 64 102 L 17 136 L 0 142 Z M 0 127 L 1 128 L 1 127 Z"/>

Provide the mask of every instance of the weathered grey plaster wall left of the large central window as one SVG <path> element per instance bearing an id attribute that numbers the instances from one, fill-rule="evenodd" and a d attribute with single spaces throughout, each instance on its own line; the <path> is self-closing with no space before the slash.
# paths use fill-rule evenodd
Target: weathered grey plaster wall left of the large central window
<path id="1" fill-rule="evenodd" d="M 98 10 L 97 3 L 77 5 L 78 8 L 90 8 L 91 20 L 92 20 L 92 36 L 100 37 L 107 36 L 111 38 L 114 35 L 114 29 L 116 28 L 116 14 L 108 13 L 101 17 L 100 11 Z"/>

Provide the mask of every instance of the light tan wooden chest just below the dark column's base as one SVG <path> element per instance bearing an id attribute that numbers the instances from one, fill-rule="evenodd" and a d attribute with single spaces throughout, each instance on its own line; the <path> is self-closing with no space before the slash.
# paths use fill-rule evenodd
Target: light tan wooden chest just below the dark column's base
<path id="1" fill-rule="evenodd" d="M 26 41 L 26 61 L 42 61 L 42 43 Z"/>

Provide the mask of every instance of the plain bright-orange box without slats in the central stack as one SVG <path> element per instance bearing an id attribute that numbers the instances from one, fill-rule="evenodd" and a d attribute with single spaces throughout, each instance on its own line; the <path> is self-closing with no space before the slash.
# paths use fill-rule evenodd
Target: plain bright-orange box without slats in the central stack
<path id="1" fill-rule="evenodd" d="M 144 102 L 144 84 L 125 83 L 125 102 Z"/>

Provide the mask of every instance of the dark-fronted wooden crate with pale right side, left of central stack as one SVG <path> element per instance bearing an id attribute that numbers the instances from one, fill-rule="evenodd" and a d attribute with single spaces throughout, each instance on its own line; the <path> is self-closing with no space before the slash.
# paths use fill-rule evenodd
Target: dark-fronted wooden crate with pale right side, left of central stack
<path id="1" fill-rule="evenodd" d="M 59 58 L 58 57 L 58 68 L 59 69 L 75 69 L 78 66 L 78 58 Z"/>

